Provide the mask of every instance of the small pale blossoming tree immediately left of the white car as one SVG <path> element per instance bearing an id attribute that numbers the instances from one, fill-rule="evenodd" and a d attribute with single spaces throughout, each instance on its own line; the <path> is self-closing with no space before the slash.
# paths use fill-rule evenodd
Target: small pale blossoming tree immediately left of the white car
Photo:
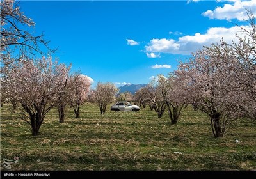
<path id="1" fill-rule="evenodd" d="M 118 93 L 118 89 L 115 84 L 110 82 L 107 82 L 106 84 L 99 82 L 97 84 L 95 91 L 93 91 L 93 98 L 99 105 L 100 114 L 106 112 L 107 105 L 115 100 L 116 93 Z"/>

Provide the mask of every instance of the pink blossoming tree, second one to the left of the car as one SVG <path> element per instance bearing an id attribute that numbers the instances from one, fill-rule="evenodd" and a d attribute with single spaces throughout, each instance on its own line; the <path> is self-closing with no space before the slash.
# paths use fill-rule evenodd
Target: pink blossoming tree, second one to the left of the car
<path id="1" fill-rule="evenodd" d="M 80 106 L 84 104 L 90 90 L 90 79 L 86 75 L 73 75 L 69 79 L 69 105 L 74 109 L 76 118 L 79 118 Z"/>

